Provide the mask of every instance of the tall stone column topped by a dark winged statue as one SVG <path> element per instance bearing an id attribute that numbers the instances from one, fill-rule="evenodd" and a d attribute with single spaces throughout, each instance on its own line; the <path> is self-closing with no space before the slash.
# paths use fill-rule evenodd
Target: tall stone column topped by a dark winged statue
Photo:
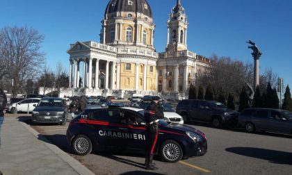
<path id="1" fill-rule="evenodd" d="M 251 44 L 252 46 L 248 47 L 248 49 L 252 49 L 252 57 L 254 58 L 254 91 L 257 88 L 257 85 L 259 85 L 259 58 L 261 57 L 261 51 L 259 51 L 259 48 L 257 45 L 252 42 L 251 40 L 248 41 L 248 44 Z"/>

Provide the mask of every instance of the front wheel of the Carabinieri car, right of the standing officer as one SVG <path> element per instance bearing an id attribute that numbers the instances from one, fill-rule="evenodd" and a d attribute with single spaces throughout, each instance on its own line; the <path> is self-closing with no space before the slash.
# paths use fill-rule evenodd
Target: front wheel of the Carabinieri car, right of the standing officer
<path id="1" fill-rule="evenodd" d="M 181 146 L 174 140 L 166 140 L 160 149 L 160 155 L 168 163 L 176 163 L 183 157 Z"/>

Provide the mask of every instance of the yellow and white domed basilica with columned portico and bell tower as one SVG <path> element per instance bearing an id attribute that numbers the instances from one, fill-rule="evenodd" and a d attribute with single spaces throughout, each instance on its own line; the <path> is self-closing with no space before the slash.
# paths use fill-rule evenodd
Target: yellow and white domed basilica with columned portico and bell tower
<path id="1" fill-rule="evenodd" d="M 187 15 L 180 0 L 174 4 L 165 28 L 165 52 L 157 53 L 147 0 L 110 0 L 100 42 L 75 42 L 67 50 L 72 94 L 187 97 L 190 84 L 206 72 L 210 60 L 188 50 Z"/>

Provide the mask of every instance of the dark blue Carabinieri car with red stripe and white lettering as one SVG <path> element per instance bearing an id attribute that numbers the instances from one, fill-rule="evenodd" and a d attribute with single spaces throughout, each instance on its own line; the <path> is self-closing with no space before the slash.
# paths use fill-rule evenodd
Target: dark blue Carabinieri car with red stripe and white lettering
<path id="1" fill-rule="evenodd" d="M 140 108 L 88 108 L 70 122 L 67 140 L 74 152 L 86 155 L 92 150 L 145 153 L 146 123 Z M 202 156 L 207 151 L 204 133 L 195 128 L 159 121 L 156 154 L 169 163 L 181 158 Z"/>

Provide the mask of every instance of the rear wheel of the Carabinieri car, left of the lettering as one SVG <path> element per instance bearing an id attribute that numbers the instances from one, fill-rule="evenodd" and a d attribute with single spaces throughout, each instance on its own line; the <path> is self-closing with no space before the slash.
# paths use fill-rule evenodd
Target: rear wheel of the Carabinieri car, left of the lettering
<path id="1" fill-rule="evenodd" d="M 86 135 L 77 135 L 72 142 L 76 154 L 85 156 L 92 151 L 91 140 Z"/>

